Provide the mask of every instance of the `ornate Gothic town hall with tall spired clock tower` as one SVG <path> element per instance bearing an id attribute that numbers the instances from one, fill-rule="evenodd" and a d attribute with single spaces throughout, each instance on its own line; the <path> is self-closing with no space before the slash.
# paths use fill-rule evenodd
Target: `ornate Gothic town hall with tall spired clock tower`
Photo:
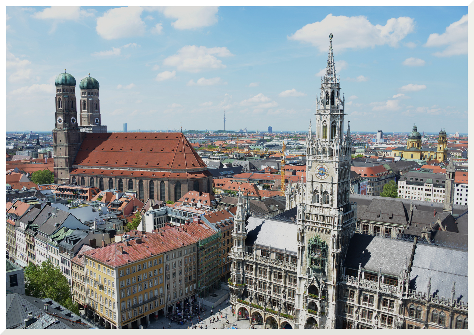
<path id="1" fill-rule="evenodd" d="M 246 219 L 239 199 L 229 279 L 236 316 L 268 328 L 467 328 L 467 247 L 439 242 L 456 234 L 467 242 L 452 162 L 437 207 L 349 197 L 352 139 L 332 34 L 315 115 L 306 183 L 286 190 L 287 211 Z"/>

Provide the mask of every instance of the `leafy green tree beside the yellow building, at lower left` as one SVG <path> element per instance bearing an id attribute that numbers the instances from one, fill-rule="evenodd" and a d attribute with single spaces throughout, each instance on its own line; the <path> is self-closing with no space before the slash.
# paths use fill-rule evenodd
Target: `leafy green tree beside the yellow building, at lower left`
<path id="1" fill-rule="evenodd" d="M 27 295 L 39 299 L 50 298 L 64 307 L 66 301 L 71 300 L 71 288 L 67 278 L 61 273 L 59 266 L 51 263 L 49 259 L 38 265 L 30 262 L 24 273 Z M 77 312 L 79 313 L 79 310 Z"/>

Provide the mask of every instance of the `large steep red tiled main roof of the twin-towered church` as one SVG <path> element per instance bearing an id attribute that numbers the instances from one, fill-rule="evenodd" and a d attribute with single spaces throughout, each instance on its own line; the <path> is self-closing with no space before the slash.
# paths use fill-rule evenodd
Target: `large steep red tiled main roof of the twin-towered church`
<path id="1" fill-rule="evenodd" d="M 147 169 L 206 167 L 180 132 L 86 133 L 73 164 Z"/>

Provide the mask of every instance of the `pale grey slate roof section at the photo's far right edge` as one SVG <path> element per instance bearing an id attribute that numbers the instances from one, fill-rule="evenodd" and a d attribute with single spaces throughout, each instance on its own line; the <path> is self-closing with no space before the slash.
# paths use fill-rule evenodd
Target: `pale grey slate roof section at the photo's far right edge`
<path id="1" fill-rule="evenodd" d="M 444 247 L 417 244 L 410 273 L 410 289 L 427 292 L 431 277 L 431 293 L 451 299 L 456 282 L 455 299 L 467 302 L 467 252 Z"/>

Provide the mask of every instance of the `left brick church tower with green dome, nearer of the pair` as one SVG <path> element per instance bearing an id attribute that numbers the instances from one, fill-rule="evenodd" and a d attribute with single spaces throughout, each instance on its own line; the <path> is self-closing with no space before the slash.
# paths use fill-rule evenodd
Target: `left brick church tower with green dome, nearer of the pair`
<path id="1" fill-rule="evenodd" d="M 64 70 L 64 73 L 56 76 L 55 87 L 54 182 L 55 184 L 69 184 L 69 171 L 71 171 L 73 159 L 82 142 L 77 124 L 76 79 Z"/>

